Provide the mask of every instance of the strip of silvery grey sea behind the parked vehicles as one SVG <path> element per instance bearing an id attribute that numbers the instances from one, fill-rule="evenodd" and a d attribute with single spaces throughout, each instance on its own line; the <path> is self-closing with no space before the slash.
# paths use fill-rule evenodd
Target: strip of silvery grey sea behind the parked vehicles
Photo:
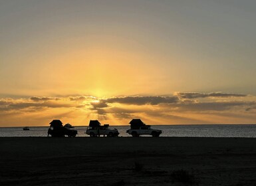
<path id="1" fill-rule="evenodd" d="M 23 127 L 0 128 L 0 137 L 47 137 L 49 127 Z M 77 126 L 77 137 L 88 137 L 84 134 L 87 126 Z M 130 126 L 112 126 L 119 131 L 120 137 L 131 137 L 126 134 Z M 256 138 L 256 125 L 166 125 L 152 126 L 162 130 L 160 137 L 223 137 L 223 138 Z"/>

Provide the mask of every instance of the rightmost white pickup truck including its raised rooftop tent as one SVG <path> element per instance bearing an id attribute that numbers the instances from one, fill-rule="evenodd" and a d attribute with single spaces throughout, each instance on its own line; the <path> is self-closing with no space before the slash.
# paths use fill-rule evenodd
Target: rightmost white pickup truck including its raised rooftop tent
<path id="1" fill-rule="evenodd" d="M 140 119 L 133 119 L 129 124 L 131 128 L 126 133 L 131 134 L 132 137 L 139 137 L 140 135 L 159 137 L 162 134 L 162 130 L 152 129 L 151 126 L 144 124 Z"/>

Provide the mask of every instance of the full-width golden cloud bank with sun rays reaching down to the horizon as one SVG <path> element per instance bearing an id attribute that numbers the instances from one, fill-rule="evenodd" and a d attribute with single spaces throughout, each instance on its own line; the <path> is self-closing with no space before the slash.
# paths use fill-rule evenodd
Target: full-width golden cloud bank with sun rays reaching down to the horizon
<path id="1" fill-rule="evenodd" d="M 10 116 L 20 117 L 24 122 L 26 117 L 37 122 L 39 118 L 49 121 L 61 117 L 84 122 L 100 118 L 108 122 L 114 120 L 116 124 L 131 118 L 144 118 L 148 122 L 154 121 L 154 124 L 253 123 L 256 121 L 256 97 L 222 92 L 176 92 L 169 96 L 111 98 L 33 96 L 1 98 L 0 110 L 1 118 L 14 121 Z M 1 126 L 4 124 L 0 122 Z"/>

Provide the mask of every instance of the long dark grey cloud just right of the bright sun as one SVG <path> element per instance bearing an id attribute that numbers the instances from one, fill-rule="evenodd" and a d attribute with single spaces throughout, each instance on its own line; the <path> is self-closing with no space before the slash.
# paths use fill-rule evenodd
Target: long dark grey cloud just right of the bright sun
<path id="1" fill-rule="evenodd" d="M 173 104 L 178 102 L 179 99 L 176 96 L 126 96 L 126 97 L 115 97 L 104 100 L 106 103 L 120 103 L 120 104 Z"/>

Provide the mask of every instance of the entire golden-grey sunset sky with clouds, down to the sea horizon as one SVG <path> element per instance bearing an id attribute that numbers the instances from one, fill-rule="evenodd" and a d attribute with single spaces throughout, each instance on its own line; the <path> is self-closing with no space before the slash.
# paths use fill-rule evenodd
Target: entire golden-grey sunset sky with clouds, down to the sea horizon
<path id="1" fill-rule="evenodd" d="M 255 7 L 0 0 L 0 126 L 256 124 Z"/>

